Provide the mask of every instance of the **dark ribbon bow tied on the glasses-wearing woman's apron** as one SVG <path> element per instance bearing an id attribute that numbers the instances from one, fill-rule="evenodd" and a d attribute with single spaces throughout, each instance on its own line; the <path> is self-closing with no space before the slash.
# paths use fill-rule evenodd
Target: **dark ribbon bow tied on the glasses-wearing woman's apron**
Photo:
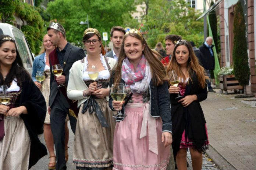
<path id="1" fill-rule="evenodd" d="M 84 114 L 88 108 L 89 108 L 89 113 L 90 114 L 92 114 L 95 111 L 102 127 L 109 127 L 109 125 L 107 124 L 106 119 L 104 118 L 103 112 L 102 112 L 99 104 L 92 97 L 90 97 L 88 100 L 86 100 L 83 103 L 82 114 Z"/>

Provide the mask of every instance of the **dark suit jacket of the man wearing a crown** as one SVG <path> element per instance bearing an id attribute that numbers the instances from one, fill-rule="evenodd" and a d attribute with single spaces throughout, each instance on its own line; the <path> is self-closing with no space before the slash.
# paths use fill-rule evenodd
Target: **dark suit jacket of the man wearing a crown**
<path id="1" fill-rule="evenodd" d="M 55 50 L 53 50 L 49 54 L 49 58 L 51 58 L 54 55 L 54 51 Z M 68 43 L 68 47 L 63 59 L 63 62 L 64 62 L 63 75 L 65 75 L 66 85 L 68 84 L 69 70 L 71 69 L 73 63 L 76 62 L 77 60 L 83 59 L 84 57 L 85 57 L 85 53 L 83 52 L 82 48 L 75 47 L 74 45 Z M 49 60 L 49 62 L 50 62 L 50 71 L 51 71 L 49 106 L 51 107 L 60 88 L 57 87 L 58 86 L 57 81 L 55 80 L 51 70 L 51 66 L 52 66 L 51 60 Z M 63 100 L 66 100 L 66 99 L 63 97 Z M 66 103 L 66 102 L 63 101 L 63 103 Z"/>

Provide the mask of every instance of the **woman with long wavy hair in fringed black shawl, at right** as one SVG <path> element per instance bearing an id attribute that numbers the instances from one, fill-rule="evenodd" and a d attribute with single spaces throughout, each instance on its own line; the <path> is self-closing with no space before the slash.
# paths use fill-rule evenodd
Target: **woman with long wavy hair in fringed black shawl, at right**
<path id="1" fill-rule="evenodd" d="M 200 101 L 207 98 L 205 72 L 186 40 L 177 41 L 173 57 L 167 66 L 167 75 L 174 70 L 179 85 L 171 85 L 171 116 L 173 122 L 173 153 L 179 170 L 186 170 L 186 152 L 189 148 L 193 170 L 202 169 L 202 153 L 208 149 L 206 121 Z M 183 98 L 177 98 L 180 93 Z"/>

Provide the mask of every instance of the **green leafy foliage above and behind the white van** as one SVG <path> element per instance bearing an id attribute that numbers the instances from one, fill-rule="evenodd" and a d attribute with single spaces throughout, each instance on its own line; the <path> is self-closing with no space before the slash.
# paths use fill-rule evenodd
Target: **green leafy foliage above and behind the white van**
<path id="1" fill-rule="evenodd" d="M 0 19 L 2 22 L 13 25 L 14 14 L 27 22 L 27 25 L 21 26 L 21 30 L 25 34 L 32 52 L 38 53 L 42 42 L 44 25 L 39 12 L 31 5 L 19 0 L 1 0 Z"/>

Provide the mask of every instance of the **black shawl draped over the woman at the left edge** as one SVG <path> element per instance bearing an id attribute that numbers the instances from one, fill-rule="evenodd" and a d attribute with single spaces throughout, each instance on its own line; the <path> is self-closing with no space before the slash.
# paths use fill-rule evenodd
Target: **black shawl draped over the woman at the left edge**
<path id="1" fill-rule="evenodd" d="M 28 114 L 21 114 L 30 137 L 29 169 L 43 156 L 47 155 L 46 147 L 43 145 L 36 133 L 42 128 L 46 115 L 46 103 L 42 93 L 28 75 L 21 83 L 21 94 L 17 99 L 15 107 L 25 106 Z"/>

